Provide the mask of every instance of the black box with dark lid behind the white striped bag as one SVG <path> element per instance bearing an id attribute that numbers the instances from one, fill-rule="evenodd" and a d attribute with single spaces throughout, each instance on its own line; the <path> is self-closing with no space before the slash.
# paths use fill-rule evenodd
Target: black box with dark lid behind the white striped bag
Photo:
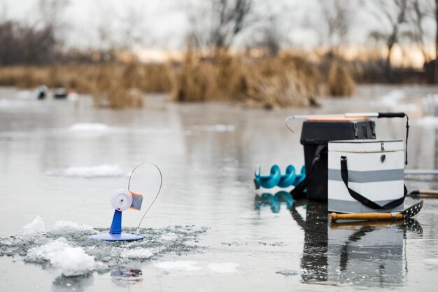
<path id="1" fill-rule="evenodd" d="M 375 124 L 372 120 L 363 118 L 305 120 L 300 142 L 304 146 L 304 162 L 306 176 L 308 176 L 306 197 L 327 202 L 327 144 L 329 141 L 375 138 Z"/>

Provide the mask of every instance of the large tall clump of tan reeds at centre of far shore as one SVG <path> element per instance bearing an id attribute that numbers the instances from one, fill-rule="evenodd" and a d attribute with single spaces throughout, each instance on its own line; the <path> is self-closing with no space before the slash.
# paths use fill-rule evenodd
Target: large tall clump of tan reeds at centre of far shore
<path id="1" fill-rule="evenodd" d="M 306 60 L 285 55 L 262 60 L 219 53 L 199 60 L 191 53 L 178 71 L 178 102 L 229 100 L 266 108 L 316 105 L 320 76 Z"/>

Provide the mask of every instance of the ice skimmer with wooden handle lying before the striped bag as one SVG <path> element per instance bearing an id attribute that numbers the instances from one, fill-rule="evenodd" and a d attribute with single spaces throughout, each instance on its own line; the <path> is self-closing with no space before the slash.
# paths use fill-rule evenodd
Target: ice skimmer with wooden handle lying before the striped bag
<path id="1" fill-rule="evenodd" d="M 423 208 L 423 200 L 416 204 L 413 204 L 411 207 L 404 209 L 401 213 L 392 212 L 392 213 L 355 213 L 355 214 L 337 214 L 332 213 L 330 215 L 330 219 L 332 221 L 337 220 L 390 220 L 390 219 L 405 219 L 411 218 L 418 214 Z"/>

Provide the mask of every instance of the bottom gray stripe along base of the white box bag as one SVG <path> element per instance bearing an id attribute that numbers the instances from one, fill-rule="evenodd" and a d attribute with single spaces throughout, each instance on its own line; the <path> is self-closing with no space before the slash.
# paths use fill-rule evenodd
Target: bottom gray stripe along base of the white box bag
<path id="1" fill-rule="evenodd" d="M 376 201 L 376 204 L 383 206 L 392 200 Z M 371 209 L 358 201 L 344 201 L 344 200 L 328 200 L 328 211 L 338 213 L 374 213 L 374 212 L 388 212 L 388 211 L 403 211 L 403 203 L 400 206 L 391 210 L 385 209 Z"/>

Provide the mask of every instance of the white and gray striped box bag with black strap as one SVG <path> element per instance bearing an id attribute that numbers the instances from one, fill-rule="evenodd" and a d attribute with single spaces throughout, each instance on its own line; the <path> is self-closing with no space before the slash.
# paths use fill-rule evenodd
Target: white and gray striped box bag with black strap
<path id="1" fill-rule="evenodd" d="M 404 146 L 395 141 L 330 141 L 328 211 L 402 211 Z"/>

